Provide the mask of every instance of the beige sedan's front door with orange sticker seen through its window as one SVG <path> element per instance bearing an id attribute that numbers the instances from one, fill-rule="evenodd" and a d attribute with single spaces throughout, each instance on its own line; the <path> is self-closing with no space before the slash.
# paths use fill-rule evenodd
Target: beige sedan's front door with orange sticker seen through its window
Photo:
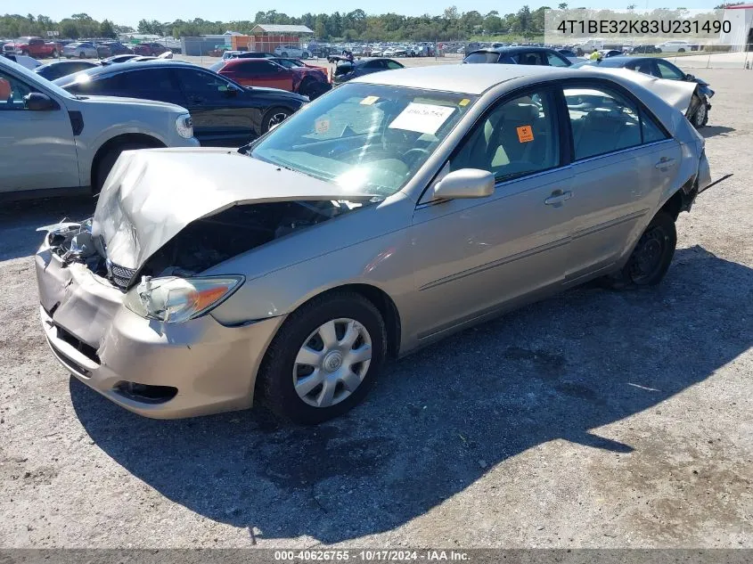
<path id="1" fill-rule="evenodd" d="M 572 183 L 561 166 L 560 127 L 546 88 L 503 100 L 446 165 L 494 172 L 494 194 L 448 201 L 424 195 L 412 227 L 419 340 L 560 287 Z"/>

